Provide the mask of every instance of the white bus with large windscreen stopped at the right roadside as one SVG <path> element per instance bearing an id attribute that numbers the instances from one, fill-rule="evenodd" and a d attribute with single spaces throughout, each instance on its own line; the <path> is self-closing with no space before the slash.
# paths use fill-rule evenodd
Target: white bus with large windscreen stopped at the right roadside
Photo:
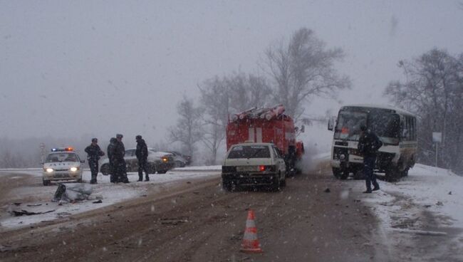
<path id="1" fill-rule="evenodd" d="M 384 172 L 388 180 L 405 177 L 417 156 L 417 121 L 405 110 L 378 105 L 345 105 L 338 117 L 331 118 L 328 130 L 334 130 L 331 147 L 333 174 L 347 179 L 363 179 L 363 157 L 358 154 L 360 125 L 380 137 L 383 147 L 378 151 L 375 172 Z"/>

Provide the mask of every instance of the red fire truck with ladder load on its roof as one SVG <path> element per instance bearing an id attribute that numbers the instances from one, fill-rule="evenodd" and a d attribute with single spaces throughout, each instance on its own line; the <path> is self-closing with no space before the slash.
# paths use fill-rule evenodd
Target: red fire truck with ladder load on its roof
<path id="1" fill-rule="evenodd" d="M 283 105 L 274 108 L 251 108 L 229 116 L 227 150 L 244 142 L 274 143 L 285 157 L 286 170 L 297 172 L 296 162 L 304 152 L 303 142 L 296 142 L 296 133 L 304 132 L 294 126 L 293 119 L 284 114 Z"/>

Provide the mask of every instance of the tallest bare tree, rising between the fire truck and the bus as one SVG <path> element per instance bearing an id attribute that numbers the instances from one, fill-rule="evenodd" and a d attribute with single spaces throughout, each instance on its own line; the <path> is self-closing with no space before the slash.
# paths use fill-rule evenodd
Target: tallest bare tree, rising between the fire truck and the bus
<path id="1" fill-rule="evenodd" d="M 282 41 L 265 54 L 264 70 L 275 83 L 274 101 L 283 104 L 286 113 L 296 121 L 311 98 L 335 98 L 336 90 L 350 88 L 349 78 L 338 75 L 334 69 L 335 61 L 342 60 L 343 51 L 326 49 L 326 44 L 308 28 L 299 29 L 287 45 Z"/>

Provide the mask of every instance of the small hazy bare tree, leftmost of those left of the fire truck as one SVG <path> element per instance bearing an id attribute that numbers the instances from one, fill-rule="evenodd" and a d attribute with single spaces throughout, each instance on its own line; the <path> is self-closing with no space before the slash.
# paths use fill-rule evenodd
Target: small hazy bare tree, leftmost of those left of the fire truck
<path id="1" fill-rule="evenodd" d="M 195 107 L 192 99 L 183 97 L 177 105 L 177 113 L 179 115 L 177 125 L 169 128 L 170 140 L 180 142 L 187 154 L 193 155 L 195 144 L 203 137 L 202 109 Z"/>

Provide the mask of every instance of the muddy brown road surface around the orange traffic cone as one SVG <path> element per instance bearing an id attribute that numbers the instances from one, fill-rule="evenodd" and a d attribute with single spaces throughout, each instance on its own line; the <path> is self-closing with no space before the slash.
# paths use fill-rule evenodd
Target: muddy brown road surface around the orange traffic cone
<path id="1" fill-rule="evenodd" d="M 224 192 L 217 177 L 153 192 L 2 232 L 0 261 L 387 260 L 372 241 L 378 221 L 360 192 L 331 172 L 287 179 L 281 192 Z M 239 250 L 249 209 L 256 216 L 260 254 Z"/>

